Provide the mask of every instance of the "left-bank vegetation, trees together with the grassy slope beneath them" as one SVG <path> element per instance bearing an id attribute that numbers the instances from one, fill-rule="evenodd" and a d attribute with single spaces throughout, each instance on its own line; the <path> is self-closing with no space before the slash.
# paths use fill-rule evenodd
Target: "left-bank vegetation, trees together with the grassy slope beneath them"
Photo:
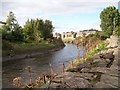
<path id="1" fill-rule="evenodd" d="M 53 38 L 52 21 L 42 19 L 27 20 L 22 28 L 13 12 L 9 12 L 2 30 L 3 56 L 34 51 L 43 51 L 64 46 L 61 39 Z"/>

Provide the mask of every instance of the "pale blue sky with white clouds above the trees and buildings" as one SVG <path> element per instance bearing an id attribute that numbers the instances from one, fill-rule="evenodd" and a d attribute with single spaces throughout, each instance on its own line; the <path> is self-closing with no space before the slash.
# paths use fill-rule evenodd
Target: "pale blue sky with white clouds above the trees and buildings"
<path id="1" fill-rule="evenodd" d="M 100 28 L 100 12 L 108 7 L 118 8 L 119 0 L 0 0 L 0 20 L 12 11 L 18 23 L 41 18 L 52 21 L 54 32 L 80 31 Z"/>

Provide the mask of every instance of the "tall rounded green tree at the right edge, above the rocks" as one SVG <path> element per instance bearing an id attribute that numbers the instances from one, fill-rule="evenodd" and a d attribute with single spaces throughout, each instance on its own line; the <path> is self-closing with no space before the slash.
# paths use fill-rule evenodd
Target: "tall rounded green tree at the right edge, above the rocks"
<path id="1" fill-rule="evenodd" d="M 107 37 L 110 37 L 110 35 L 113 34 L 114 30 L 118 31 L 118 27 L 120 24 L 119 17 L 119 11 L 114 6 L 109 6 L 101 12 L 100 27 L 102 28 L 103 32 Z"/>

